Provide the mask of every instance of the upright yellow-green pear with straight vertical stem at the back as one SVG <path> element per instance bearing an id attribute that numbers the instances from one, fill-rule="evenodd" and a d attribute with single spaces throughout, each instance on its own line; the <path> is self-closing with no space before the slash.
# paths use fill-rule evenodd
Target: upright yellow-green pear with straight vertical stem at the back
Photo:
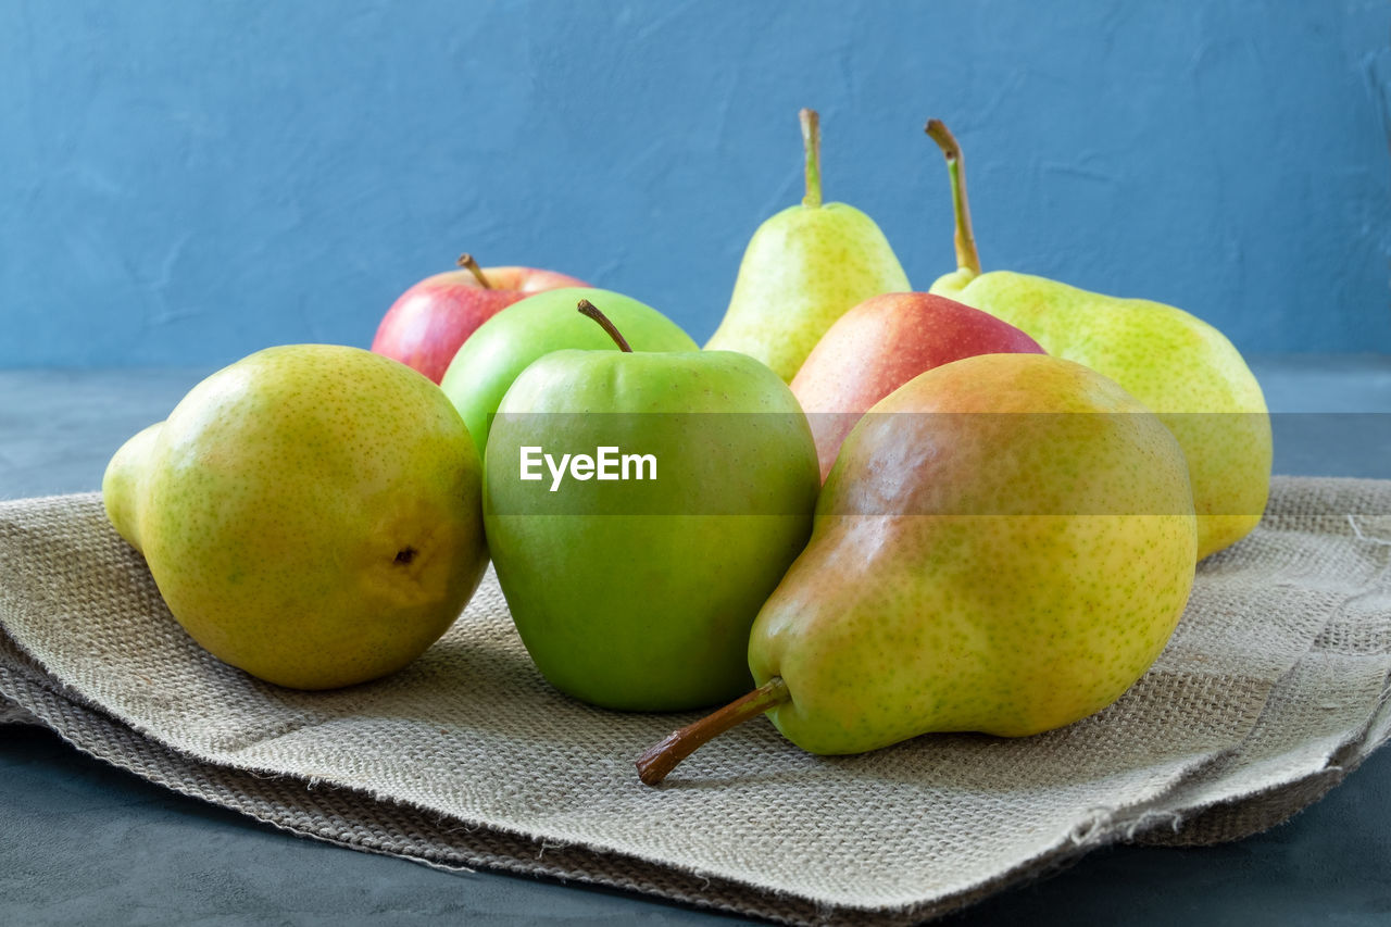
<path id="1" fill-rule="evenodd" d="M 817 113 L 801 110 L 807 193 L 768 219 L 748 242 L 734 294 L 705 345 L 757 358 L 790 383 L 832 323 L 908 278 L 872 219 L 844 203 L 821 202 Z"/>

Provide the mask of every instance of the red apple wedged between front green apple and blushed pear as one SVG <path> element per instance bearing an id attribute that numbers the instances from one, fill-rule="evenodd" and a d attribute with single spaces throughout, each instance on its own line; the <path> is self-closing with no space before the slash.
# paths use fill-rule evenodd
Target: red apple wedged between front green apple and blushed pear
<path id="1" fill-rule="evenodd" d="M 995 316 L 926 292 L 865 299 L 821 337 L 793 377 L 817 440 L 821 479 L 871 405 L 912 377 L 978 354 L 1045 354 Z"/>

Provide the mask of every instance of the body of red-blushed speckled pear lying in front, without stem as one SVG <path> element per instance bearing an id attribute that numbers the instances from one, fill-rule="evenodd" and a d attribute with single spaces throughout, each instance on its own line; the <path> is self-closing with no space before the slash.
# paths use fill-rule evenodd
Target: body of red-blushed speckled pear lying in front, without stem
<path id="1" fill-rule="evenodd" d="M 957 360 L 846 438 L 811 541 L 754 622 L 750 668 L 786 681 L 769 715 L 812 753 L 1049 731 L 1153 663 L 1195 550 L 1178 444 L 1111 380 L 1045 355 Z"/>

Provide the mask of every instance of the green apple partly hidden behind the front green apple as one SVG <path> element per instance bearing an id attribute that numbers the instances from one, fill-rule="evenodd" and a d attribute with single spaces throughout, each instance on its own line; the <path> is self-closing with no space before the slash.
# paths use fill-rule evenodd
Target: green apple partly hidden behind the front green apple
<path id="1" fill-rule="evenodd" d="M 527 365 L 562 348 L 616 349 L 602 328 L 574 312 L 580 299 L 604 306 L 634 351 L 697 349 L 691 337 L 657 309 L 608 290 L 565 287 L 515 302 L 479 326 L 440 381 L 469 426 L 479 457 L 487 450 L 492 413 Z"/>

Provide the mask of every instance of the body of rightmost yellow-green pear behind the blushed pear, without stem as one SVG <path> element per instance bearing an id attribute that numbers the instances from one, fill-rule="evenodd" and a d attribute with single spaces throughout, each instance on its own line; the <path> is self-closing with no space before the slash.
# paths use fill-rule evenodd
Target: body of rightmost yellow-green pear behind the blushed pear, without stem
<path id="1" fill-rule="evenodd" d="M 1245 537 L 1270 494 L 1266 398 L 1227 337 L 1182 309 L 1043 277 L 956 271 L 932 292 L 989 312 L 1049 354 L 1085 363 L 1159 413 L 1188 458 L 1198 557 Z"/>

